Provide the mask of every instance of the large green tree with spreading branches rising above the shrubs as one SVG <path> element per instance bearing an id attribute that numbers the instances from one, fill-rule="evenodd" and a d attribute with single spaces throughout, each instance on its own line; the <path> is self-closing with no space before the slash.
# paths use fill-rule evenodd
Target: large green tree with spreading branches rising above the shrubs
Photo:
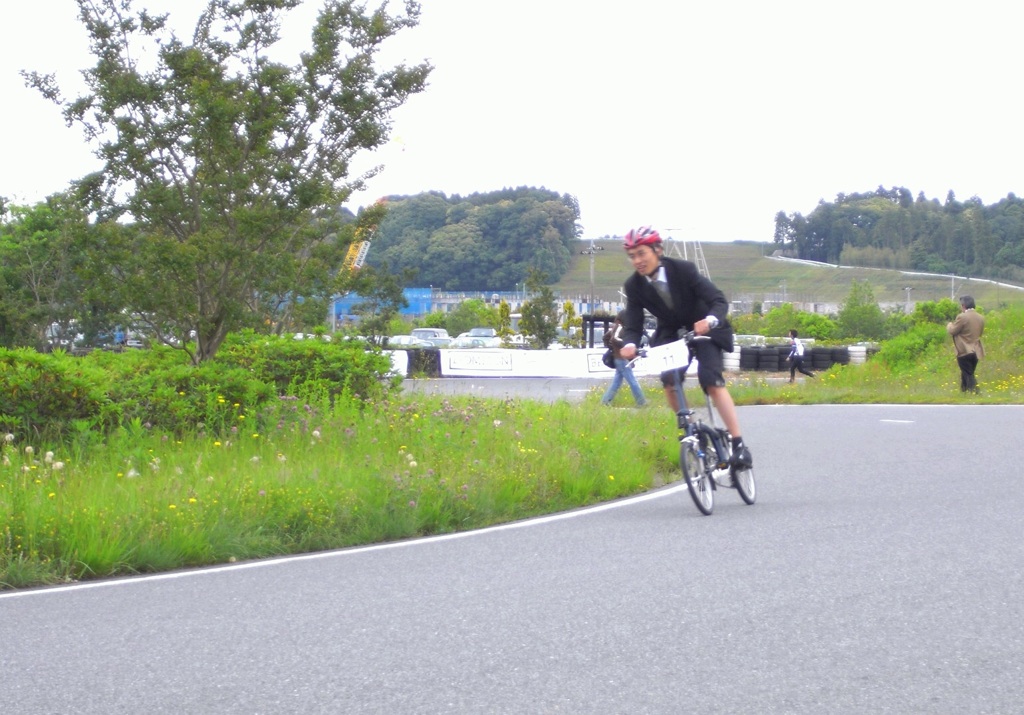
<path id="1" fill-rule="evenodd" d="M 158 334 L 195 330 L 198 363 L 328 290 L 353 229 L 336 207 L 376 173 L 349 177 L 351 161 L 426 86 L 426 62 L 376 62 L 419 4 L 391 15 L 327 0 L 290 66 L 271 48 L 301 0 L 211 0 L 188 42 L 132 0 L 77 2 L 96 60 L 87 92 L 69 100 L 52 77 L 26 77 L 96 146 L 103 169 L 80 187 L 97 215 L 134 223 L 110 247 L 125 304 Z"/>

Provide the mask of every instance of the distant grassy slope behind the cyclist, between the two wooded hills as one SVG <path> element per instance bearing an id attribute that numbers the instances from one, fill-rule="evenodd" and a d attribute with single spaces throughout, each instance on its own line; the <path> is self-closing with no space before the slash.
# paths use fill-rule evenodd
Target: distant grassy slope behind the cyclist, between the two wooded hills
<path id="1" fill-rule="evenodd" d="M 581 242 L 581 249 L 589 246 Z M 598 241 L 604 250 L 594 254 L 594 295 L 602 300 L 614 300 L 631 268 L 617 241 Z M 730 300 L 781 300 L 781 284 L 785 282 L 785 298 L 791 302 L 842 303 L 850 293 L 853 280 L 868 281 L 874 297 L 881 303 L 910 300 L 938 300 L 950 297 L 950 279 L 907 276 L 897 270 L 873 268 L 837 268 L 813 266 L 773 260 L 768 255 L 774 248 L 753 242 L 701 244 L 712 280 Z M 682 247 L 680 246 L 680 251 Z M 690 249 L 692 260 L 692 248 Z M 562 296 L 590 295 L 590 256 L 577 253 L 568 272 L 555 284 Z M 1024 290 L 1014 290 L 980 281 L 956 279 L 955 295 L 973 295 L 979 306 L 1024 304 Z"/>

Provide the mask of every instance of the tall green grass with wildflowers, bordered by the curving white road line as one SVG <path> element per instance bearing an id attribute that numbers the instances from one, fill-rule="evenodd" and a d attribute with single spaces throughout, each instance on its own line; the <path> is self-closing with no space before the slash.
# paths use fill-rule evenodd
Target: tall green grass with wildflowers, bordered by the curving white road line
<path id="1" fill-rule="evenodd" d="M 420 397 L 175 439 L 134 425 L 0 457 L 0 583 L 157 572 L 474 529 L 677 478 L 668 411 Z"/>

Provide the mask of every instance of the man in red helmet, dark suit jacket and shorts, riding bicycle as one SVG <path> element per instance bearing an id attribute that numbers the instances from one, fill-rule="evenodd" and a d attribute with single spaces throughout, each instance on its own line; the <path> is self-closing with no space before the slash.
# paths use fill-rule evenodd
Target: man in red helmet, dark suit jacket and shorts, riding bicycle
<path id="1" fill-rule="evenodd" d="M 623 358 L 632 360 L 637 353 L 643 334 L 644 309 L 657 321 L 651 345 L 677 340 L 680 331 L 692 330 L 697 335 L 709 336 L 711 340 L 695 342 L 691 348 L 697 361 L 697 382 L 732 435 L 732 466 L 749 469 L 754 458 L 743 444 L 736 407 L 722 375 L 722 350 L 732 350 L 732 326 L 726 318 L 729 303 L 725 295 L 690 261 L 663 255 L 662 237 L 650 226 L 630 230 L 623 246 L 636 269 L 624 286 Z M 685 377 L 685 370 L 662 373 L 662 385 L 669 406 L 673 412 L 679 412 L 674 372 L 680 373 L 680 380 Z"/>

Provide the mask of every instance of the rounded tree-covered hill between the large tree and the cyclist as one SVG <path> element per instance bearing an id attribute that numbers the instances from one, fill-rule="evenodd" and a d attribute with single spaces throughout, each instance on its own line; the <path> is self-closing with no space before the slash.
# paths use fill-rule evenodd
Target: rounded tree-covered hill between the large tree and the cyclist
<path id="1" fill-rule="evenodd" d="M 416 283 L 452 291 L 514 290 L 530 268 L 548 281 L 568 269 L 577 246 L 574 197 L 520 186 L 467 197 L 439 192 L 385 199 L 371 265 L 417 270 Z"/>

